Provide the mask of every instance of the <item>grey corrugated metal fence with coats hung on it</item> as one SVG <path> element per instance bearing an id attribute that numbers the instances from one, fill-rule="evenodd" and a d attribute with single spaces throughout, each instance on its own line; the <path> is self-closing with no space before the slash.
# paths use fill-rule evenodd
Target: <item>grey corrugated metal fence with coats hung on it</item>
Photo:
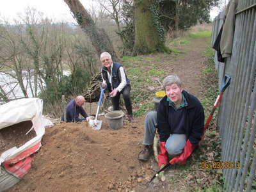
<path id="1" fill-rule="evenodd" d="M 255 14 L 256 0 L 238 1 L 232 56 L 225 63 L 214 60 L 219 86 L 225 74 L 232 76 L 218 110 L 226 191 L 251 191 L 256 183 Z M 214 19 L 212 44 L 222 24 L 223 13 Z"/>

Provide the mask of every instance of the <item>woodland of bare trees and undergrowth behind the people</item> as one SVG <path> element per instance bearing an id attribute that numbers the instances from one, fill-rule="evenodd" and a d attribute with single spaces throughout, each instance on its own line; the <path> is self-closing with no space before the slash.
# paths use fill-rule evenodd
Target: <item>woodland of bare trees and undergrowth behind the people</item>
<path id="1" fill-rule="evenodd" d="M 98 1 L 96 12 L 86 10 L 78 0 L 63 3 L 77 23 L 54 22 L 29 7 L 15 24 L 0 19 L 1 76 L 12 77 L 0 84 L 2 104 L 40 97 L 44 113 L 58 118 L 63 111 L 61 102 L 76 95 L 95 102 L 99 99 L 101 52 L 110 52 L 120 63 L 141 54 L 172 54 L 174 50 L 166 44 L 196 24 L 211 22 L 211 8 L 218 6 L 221 11 L 227 4 L 220 0 L 105 0 Z M 16 87 L 22 96 L 17 96 Z M 62 95 L 66 101 L 61 100 Z M 140 97 L 140 92 L 132 97 Z"/>

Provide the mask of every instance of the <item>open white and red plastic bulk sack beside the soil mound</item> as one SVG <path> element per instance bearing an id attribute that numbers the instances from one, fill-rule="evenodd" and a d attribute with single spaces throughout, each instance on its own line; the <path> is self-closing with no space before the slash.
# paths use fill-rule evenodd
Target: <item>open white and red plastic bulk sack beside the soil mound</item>
<path id="1" fill-rule="evenodd" d="M 35 138 L 21 147 L 10 148 L 1 154 L 0 165 L 3 164 L 3 168 L 0 172 L 0 191 L 11 188 L 30 170 L 30 155 L 39 150 L 42 136 L 45 134 L 42 112 L 43 101 L 39 98 L 14 100 L 0 106 L 0 129 L 31 120 L 31 129 L 36 132 Z"/>

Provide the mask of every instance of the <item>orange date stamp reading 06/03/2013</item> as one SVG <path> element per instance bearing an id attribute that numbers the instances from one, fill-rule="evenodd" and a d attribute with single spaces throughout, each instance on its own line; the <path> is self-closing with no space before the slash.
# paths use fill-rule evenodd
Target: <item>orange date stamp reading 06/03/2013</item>
<path id="1" fill-rule="evenodd" d="M 221 162 L 221 161 L 207 162 L 207 161 L 204 161 L 204 162 L 200 163 L 200 166 L 202 169 L 209 169 L 209 168 L 213 168 L 213 169 L 237 168 L 238 169 L 240 167 L 240 163 L 239 163 L 239 161 L 237 161 L 237 162 Z"/>

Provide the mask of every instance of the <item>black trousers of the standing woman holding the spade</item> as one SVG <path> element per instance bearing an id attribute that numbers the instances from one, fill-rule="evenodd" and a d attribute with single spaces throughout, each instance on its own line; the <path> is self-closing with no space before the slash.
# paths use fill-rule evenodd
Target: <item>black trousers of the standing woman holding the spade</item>
<path id="1" fill-rule="evenodd" d="M 113 110 L 119 110 L 120 95 L 123 94 L 127 114 L 132 115 L 132 103 L 131 103 L 130 92 L 131 92 L 131 85 L 127 84 L 121 92 L 118 92 L 116 94 L 116 97 L 111 97 Z"/>

